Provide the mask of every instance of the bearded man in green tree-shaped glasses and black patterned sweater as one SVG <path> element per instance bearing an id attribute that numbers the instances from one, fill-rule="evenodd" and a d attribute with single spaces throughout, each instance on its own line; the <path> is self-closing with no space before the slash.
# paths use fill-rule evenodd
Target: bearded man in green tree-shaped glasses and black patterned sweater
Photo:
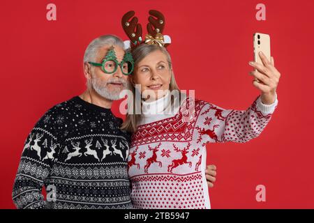
<path id="1" fill-rule="evenodd" d="M 130 134 L 119 129 L 122 120 L 110 109 L 127 88 L 131 62 L 117 36 L 89 44 L 87 90 L 49 109 L 25 141 L 13 187 L 17 208 L 132 208 Z M 216 167 L 207 167 L 207 174 L 212 186 Z"/>

